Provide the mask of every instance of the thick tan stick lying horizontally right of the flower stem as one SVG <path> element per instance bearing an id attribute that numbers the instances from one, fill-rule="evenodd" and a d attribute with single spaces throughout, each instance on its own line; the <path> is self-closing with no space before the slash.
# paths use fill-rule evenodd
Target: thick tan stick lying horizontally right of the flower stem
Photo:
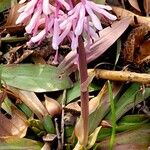
<path id="1" fill-rule="evenodd" d="M 113 81 L 130 81 L 143 84 L 150 84 L 150 74 L 136 73 L 129 71 L 110 71 L 104 69 L 89 69 L 88 72 L 94 73 L 96 78 Z"/>

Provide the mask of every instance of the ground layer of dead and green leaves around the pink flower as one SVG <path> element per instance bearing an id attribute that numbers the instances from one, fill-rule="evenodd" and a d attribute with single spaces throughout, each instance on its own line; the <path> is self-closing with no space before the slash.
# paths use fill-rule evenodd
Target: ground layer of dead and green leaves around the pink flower
<path id="1" fill-rule="evenodd" d="M 66 38 L 61 43 L 58 64 L 54 64 L 52 39 L 28 46 L 28 22 L 16 25 L 17 11 L 24 4 L 0 2 L 1 149 L 105 150 L 112 135 L 112 149 L 147 150 L 150 146 L 149 1 L 96 2 L 110 4 L 117 20 L 102 22 L 98 39 L 87 44 L 89 78 L 82 84 L 79 54 L 71 50 L 70 41 Z M 111 101 L 107 80 L 112 83 Z M 86 145 L 79 89 L 87 86 Z"/>

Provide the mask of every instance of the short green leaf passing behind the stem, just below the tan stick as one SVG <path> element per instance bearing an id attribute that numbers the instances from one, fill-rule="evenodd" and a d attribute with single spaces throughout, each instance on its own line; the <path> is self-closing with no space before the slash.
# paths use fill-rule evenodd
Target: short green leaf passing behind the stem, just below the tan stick
<path id="1" fill-rule="evenodd" d="M 99 90 L 100 87 L 97 86 L 94 83 L 91 83 L 89 85 L 89 92 L 93 92 L 93 91 L 97 91 Z M 67 92 L 67 103 L 70 103 L 71 101 L 73 101 L 75 98 L 80 97 L 80 84 L 79 82 L 75 83 L 73 88 L 69 89 Z"/>

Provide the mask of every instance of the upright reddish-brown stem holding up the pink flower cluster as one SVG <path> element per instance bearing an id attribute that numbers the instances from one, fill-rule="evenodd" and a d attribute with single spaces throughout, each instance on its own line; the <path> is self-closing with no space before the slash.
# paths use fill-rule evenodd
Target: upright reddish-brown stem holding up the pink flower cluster
<path id="1" fill-rule="evenodd" d="M 86 81 L 88 79 L 86 53 L 82 36 L 79 36 L 78 47 L 78 62 L 79 62 L 79 75 L 80 75 L 80 99 L 81 99 L 81 117 L 83 119 L 83 145 L 87 145 L 88 141 L 88 116 L 89 116 L 89 92 Z M 85 84 L 83 87 L 82 85 Z"/>

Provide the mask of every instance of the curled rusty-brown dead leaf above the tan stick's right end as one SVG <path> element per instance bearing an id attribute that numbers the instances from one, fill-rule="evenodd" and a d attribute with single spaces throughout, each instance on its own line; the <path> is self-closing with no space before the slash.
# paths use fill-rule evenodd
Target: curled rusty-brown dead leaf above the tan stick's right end
<path id="1" fill-rule="evenodd" d="M 144 38 L 149 32 L 150 26 L 145 24 L 134 28 L 130 32 L 126 42 L 124 43 L 122 51 L 125 62 L 141 64 L 141 61 L 143 61 L 145 57 L 149 56 L 149 42 L 144 42 Z"/>

